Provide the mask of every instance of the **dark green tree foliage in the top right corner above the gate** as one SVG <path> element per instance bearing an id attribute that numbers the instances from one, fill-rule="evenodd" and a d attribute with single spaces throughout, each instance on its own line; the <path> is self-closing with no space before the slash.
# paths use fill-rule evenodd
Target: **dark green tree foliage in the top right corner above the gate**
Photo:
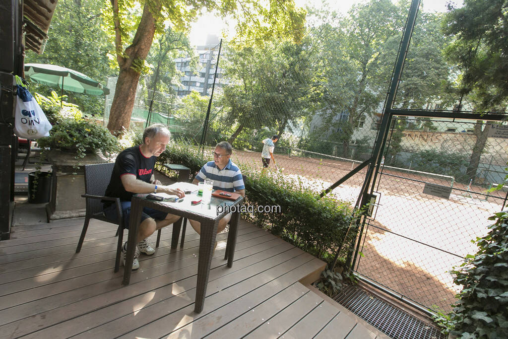
<path id="1" fill-rule="evenodd" d="M 481 108 L 506 105 L 508 98 L 508 0 L 465 0 L 449 5 L 444 34 L 455 38 L 447 56 L 462 71 L 460 94 L 475 92 Z"/>

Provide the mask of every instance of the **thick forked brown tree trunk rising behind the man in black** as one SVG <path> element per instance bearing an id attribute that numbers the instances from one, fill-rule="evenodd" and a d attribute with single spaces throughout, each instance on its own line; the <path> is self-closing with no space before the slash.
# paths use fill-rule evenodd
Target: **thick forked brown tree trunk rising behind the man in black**
<path id="1" fill-rule="evenodd" d="M 155 5 L 152 11 L 161 10 L 161 5 Z M 119 30 L 119 27 L 115 29 Z M 145 2 L 143 15 L 139 23 L 132 45 L 127 47 L 122 54 L 122 46 L 119 35 L 115 40 L 118 66 L 118 80 L 116 82 L 115 96 L 109 112 L 108 129 L 113 135 L 118 135 L 123 128 L 129 129 L 131 124 L 132 109 L 136 98 L 141 66 L 150 50 L 155 34 L 155 18 L 149 9 L 149 2 Z M 123 56 L 125 55 L 125 56 Z"/>

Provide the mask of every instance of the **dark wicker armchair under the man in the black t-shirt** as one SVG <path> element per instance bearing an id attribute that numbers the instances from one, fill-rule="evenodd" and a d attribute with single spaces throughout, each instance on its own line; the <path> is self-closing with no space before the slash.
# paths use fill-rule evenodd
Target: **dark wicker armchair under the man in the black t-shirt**
<path id="1" fill-rule="evenodd" d="M 109 180 L 111 178 L 111 174 L 113 173 L 114 163 L 106 163 L 106 164 L 94 164 L 94 165 L 85 165 L 85 194 L 81 195 L 83 198 L 86 198 L 86 215 L 85 215 L 85 223 L 83 224 L 83 230 L 81 231 L 81 236 L 79 238 L 78 247 L 76 249 L 76 253 L 81 251 L 81 246 L 83 245 L 83 241 L 85 239 L 86 230 L 88 229 L 88 223 L 90 219 L 98 219 L 107 223 L 116 224 L 117 231 L 116 235 L 118 236 L 118 243 L 116 246 L 116 259 L 115 259 L 115 272 L 120 268 L 120 253 L 123 244 L 123 215 L 122 208 L 120 204 L 119 198 L 106 197 L 106 188 L 108 187 Z M 116 213 L 118 215 L 118 222 L 107 219 L 103 213 L 103 204 L 102 200 L 110 200 L 114 201 L 116 204 Z M 161 238 L 161 230 L 158 230 L 157 234 L 157 245 Z"/>

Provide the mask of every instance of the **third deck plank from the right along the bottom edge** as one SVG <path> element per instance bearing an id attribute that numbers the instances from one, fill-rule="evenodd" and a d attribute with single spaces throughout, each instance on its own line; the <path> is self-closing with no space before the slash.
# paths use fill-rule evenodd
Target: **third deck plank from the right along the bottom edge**
<path id="1" fill-rule="evenodd" d="M 312 338 L 317 332 L 321 331 L 330 320 L 337 316 L 339 312 L 337 307 L 327 301 L 323 301 L 304 318 L 300 319 L 297 324 L 283 333 L 282 337 Z"/>

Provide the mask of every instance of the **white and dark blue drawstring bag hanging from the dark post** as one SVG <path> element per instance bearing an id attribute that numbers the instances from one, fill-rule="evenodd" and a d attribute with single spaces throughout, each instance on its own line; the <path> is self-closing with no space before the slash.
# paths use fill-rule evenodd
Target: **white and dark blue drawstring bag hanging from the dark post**
<path id="1" fill-rule="evenodd" d="M 14 133 L 20 138 L 31 140 L 49 136 L 52 126 L 46 115 L 21 81 L 17 83 Z"/>

